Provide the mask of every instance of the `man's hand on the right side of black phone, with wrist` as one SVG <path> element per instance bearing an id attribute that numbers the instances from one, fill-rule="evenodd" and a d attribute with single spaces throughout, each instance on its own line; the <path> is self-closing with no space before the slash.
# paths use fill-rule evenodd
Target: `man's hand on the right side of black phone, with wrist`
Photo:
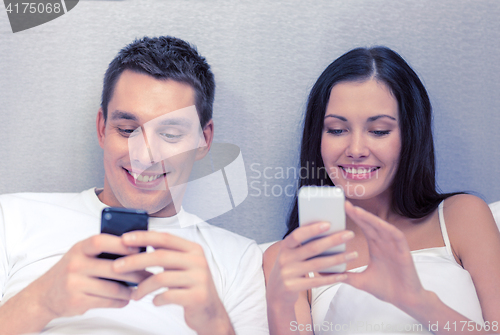
<path id="1" fill-rule="evenodd" d="M 183 306 L 186 324 L 200 335 L 234 334 L 199 244 L 153 231 L 126 233 L 122 239 L 126 246 L 152 246 L 155 251 L 117 259 L 116 272 L 140 271 L 151 266 L 165 269 L 139 283 L 132 299 L 139 300 L 160 288 L 167 288 L 153 299 L 156 306 Z"/>

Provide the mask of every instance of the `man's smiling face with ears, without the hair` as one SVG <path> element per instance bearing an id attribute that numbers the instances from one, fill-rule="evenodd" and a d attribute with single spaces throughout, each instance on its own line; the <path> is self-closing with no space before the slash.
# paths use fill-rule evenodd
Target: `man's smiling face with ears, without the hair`
<path id="1" fill-rule="evenodd" d="M 206 155 L 213 137 L 212 121 L 202 131 L 194 104 L 195 91 L 188 84 L 129 70 L 121 74 L 107 120 L 102 110 L 97 115 L 104 150 L 102 202 L 153 216 L 176 214 L 183 188 L 174 186 L 188 181 L 194 161 Z"/>

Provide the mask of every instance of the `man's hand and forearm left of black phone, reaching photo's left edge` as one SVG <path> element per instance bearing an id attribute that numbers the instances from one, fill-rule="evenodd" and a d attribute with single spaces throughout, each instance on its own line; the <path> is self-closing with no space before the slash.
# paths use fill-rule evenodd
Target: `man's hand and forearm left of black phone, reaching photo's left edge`
<path id="1" fill-rule="evenodd" d="M 78 242 L 44 275 L 0 308 L 0 333 L 39 332 L 58 317 L 80 315 L 91 308 L 126 306 L 132 289 L 99 278 L 140 282 L 150 274 L 118 274 L 113 270 L 113 261 L 95 256 L 101 252 L 131 255 L 138 251 L 125 246 L 120 237 L 107 234 Z"/>

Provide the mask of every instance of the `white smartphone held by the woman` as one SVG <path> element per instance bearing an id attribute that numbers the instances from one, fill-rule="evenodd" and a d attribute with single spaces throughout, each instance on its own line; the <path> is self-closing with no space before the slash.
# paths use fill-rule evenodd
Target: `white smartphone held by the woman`
<path id="1" fill-rule="evenodd" d="M 333 186 L 303 186 L 299 190 L 299 225 L 307 225 L 319 221 L 330 222 L 330 229 L 309 240 L 310 242 L 345 230 L 345 196 L 344 191 Z M 345 243 L 326 250 L 315 257 L 329 256 L 345 251 Z M 346 264 L 331 266 L 320 272 L 344 272 Z"/>

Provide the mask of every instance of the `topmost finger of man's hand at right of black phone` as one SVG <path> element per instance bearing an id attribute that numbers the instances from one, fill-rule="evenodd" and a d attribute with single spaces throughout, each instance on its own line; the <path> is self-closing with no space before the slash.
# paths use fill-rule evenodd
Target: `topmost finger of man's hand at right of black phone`
<path id="1" fill-rule="evenodd" d="M 152 246 L 177 251 L 190 251 L 199 245 L 179 236 L 155 231 L 134 231 L 122 235 L 123 243 L 131 247 Z"/>

